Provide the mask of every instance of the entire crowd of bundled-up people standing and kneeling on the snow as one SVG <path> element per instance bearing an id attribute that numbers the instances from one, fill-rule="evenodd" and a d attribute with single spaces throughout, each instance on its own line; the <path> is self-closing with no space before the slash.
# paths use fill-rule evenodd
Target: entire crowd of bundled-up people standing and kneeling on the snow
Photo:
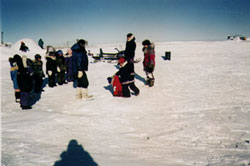
<path id="1" fill-rule="evenodd" d="M 64 55 L 62 50 L 56 51 L 52 46 L 47 46 L 46 52 L 46 74 L 48 75 L 48 86 L 55 87 L 67 84 L 73 81 L 73 87 L 76 88 L 77 99 L 92 99 L 88 94 L 89 81 L 88 54 L 85 48 L 86 41 L 80 39 Z M 146 73 L 146 84 L 150 87 L 154 84 L 155 52 L 154 44 L 149 40 L 144 40 L 143 45 L 143 68 Z M 132 33 L 127 34 L 126 48 L 124 57 L 118 59 L 119 70 L 115 76 L 119 78 L 122 93 L 120 96 L 130 97 L 130 90 L 136 96 L 140 90 L 135 85 L 135 36 Z M 42 57 L 39 54 L 34 56 L 34 60 L 25 55 L 18 54 L 9 58 L 11 66 L 11 79 L 14 83 L 16 102 L 20 103 L 22 109 L 31 109 L 29 96 L 31 92 L 41 93 L 43 91 L 43 72 Z"/>

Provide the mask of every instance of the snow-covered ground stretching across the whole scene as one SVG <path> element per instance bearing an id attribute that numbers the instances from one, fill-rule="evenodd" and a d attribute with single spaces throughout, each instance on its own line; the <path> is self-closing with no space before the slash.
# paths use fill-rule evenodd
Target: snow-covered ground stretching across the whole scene
<path id="1" fill-rule="evenodd" d="M 87 49 L 114 52 L 123 46 Z M 90 63 L 94 100 L 76 100 L 72 83 L 47 86 L 25 111 L 14 102 L 8 63 L 20 52 L 0 49 L 2 166 L 66 163 L 72 140 L 83 147 L 85 153 L 74 154 L 88 158 L 84 166 L 250 165 L 250 42 L 156 43 L 155 86 L 144 85 L 137 63 L 141 93 L 129 99 L 110 92 L 106 78 L 117 71 L 115 64 Z M 138 43 L 137 58 L 141 49 Z M 164 60 L 165 51 L 171 61 Z M 26 55 L 33 59 L 36 53 L 44 56 L 45 50 Z"/>

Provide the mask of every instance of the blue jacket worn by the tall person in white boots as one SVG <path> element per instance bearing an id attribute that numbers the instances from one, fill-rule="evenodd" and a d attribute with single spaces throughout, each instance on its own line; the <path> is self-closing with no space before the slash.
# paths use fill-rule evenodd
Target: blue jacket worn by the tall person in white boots
<path id="1" fill-rule="evenodd" d="M 78 71 L 88 71 L 88 56 L 85 48 L 81 48 L 77 43 L 71 47 L 72 50 L 72 69 L 73 75 Z"/>

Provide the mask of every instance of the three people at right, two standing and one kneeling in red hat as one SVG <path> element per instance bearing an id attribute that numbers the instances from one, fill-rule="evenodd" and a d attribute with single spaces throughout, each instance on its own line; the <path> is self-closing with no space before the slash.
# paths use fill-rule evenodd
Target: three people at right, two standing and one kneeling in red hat
<path id="1" fill-rule="evenodd" d="M 146 85 L 152 87 L 154 85 L 154 67 L 155 67 L 155 51 L 154 44 L 149 40 L 144 40 L 143 45 L 143 69 L 146 73 Z M 117 93 L 118 96 L 130 97 L 130 89 L 136 96 L 139 95 L 140 90 L 135 85 L 135 36 L 132 33 L 127 34 L 126 48 L 124 51 L 124 57 L 119 58 L 119 71 L 115 73 L 115 76 L 119 77 L 121 83 L 121 93 Z"/>

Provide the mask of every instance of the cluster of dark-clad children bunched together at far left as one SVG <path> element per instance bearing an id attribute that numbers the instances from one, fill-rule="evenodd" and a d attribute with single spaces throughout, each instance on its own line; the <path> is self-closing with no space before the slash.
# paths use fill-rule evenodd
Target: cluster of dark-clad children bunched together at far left
<path id="1" fill-rule="evenodd" d="M 41 93 L 43 91 L 43 62 L 41 55 L 36 54 L 32 61 L 25 55 L 22 57 L 15 54 L 9 58 L 10 74 L 13 81 L 16 102 L 20 103 L 22 109 L 31 109 L 30 93 Z"/>

